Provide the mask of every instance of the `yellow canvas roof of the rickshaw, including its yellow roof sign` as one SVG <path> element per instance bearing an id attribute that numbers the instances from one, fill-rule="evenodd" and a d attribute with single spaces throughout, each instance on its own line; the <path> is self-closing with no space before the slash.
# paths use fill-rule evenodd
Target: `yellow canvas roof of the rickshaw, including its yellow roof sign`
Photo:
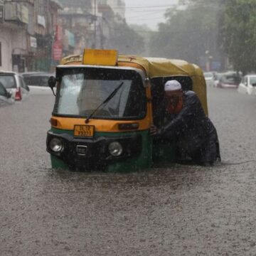
<path id="1" fill-rule="evenodd" d="M 90 57 L 88 63 L 85 61 L 86 54 L 87 60 Z M 107 58 L 111 59 L 107 61 Z M 203 70 L 201 70 L 198 65 L 188 63 L 186 60 L 146 58 L 137 55 L 118 55 L 115 50 L 85 49 L 84 55 L 67 56 L 60 61 L 60 64 L 134 67 L 144 70 L 146 77 L 149 79 L 188 76 L 193 81 L 193 91 L 198 95 L 204 111 L 208 114 L 206 81 L 203 76 Z"/>

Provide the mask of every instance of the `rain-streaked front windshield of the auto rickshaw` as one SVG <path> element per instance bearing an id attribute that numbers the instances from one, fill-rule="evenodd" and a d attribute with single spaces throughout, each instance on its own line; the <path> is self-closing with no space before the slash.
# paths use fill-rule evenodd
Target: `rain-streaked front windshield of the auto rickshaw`
<path id="1" fill-rule="evenodd" d="M 54 114 L 88 117 L 123 82 L 116 94 L 92 118 L 142 119 L 146 114 L 146 93 L 142 77 L 135 70 L 111 68 L 63 68 Z"/>

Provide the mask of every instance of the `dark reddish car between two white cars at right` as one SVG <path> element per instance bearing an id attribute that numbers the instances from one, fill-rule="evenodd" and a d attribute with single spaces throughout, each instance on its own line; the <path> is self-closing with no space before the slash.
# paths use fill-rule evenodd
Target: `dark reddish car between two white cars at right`
<path id="1" fill-rule="evenodd" d="M 242 78 L 235 73 L 219 74 L 218 80 L 215 82 L 215 87 L 218 88 L 238 88 Z"/>

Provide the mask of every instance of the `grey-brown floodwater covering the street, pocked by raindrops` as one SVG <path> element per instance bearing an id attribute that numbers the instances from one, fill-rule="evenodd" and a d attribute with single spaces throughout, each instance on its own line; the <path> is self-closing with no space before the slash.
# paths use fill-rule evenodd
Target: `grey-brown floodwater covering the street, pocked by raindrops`
<path id="1" fill-rule="evenodd" d="M 223 162 L 50 169 L 52 95 L 0 108 L 0 255 L 256 255 L 256 97 L 208 89 Z"/>

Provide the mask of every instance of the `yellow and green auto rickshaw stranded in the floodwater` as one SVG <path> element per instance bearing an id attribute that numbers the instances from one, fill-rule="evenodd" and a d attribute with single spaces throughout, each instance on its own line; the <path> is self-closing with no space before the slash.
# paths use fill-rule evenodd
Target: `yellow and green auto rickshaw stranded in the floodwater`
<path id="1" fill-rule="evenodd" d="M 96 49 L 63 58 L 49 80 L 56 87 L 46 141 L 52 167 L 134 171 L 174 162 L 175 144 L 154 143 L 149 133 L 172 79 L 195 91 L 207 114 L 203 72 L 184 60 Z"/>

